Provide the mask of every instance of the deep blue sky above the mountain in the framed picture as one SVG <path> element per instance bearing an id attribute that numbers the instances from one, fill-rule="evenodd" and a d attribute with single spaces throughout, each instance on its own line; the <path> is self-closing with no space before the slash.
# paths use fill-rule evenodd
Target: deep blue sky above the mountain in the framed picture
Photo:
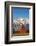
<path id="1" fill-rule="evenodd" d="M 29 9 L 13 7 L 13 19 L 18 19 L 18 18 L 27 18 L 28 19 L 29 18 Z"/>

